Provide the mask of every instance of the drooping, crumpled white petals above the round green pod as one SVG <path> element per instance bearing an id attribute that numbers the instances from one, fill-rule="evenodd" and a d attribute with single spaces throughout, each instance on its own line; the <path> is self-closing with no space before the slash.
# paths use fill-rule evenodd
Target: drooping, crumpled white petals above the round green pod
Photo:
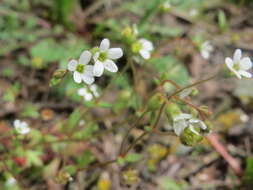
<path id="1" fill-rule="evenodd" d="M 180 136 L 186 127 L 190 127 L 190 129 L 198 135 L 199 133 L 194 127 L 200 127 L 202 130 L 207 129 L 207 126 L 203 121 L 193 118 L 191 114 L 181 113 L 174 118 L 173 128 L 176 135 Z"/>

